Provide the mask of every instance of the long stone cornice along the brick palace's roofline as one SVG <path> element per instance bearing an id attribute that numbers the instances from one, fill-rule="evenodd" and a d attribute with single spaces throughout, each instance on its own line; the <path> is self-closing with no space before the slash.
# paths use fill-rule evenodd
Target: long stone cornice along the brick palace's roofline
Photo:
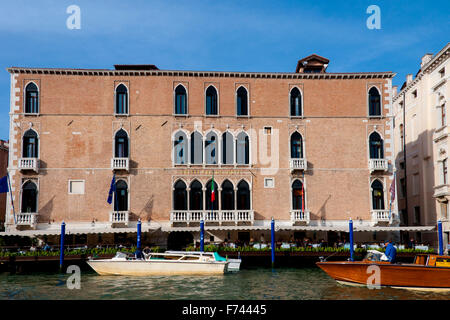
<path id="1" fill-rule="evenodd" d="M 391 79 L 393 72 L 360 73 L 283 73 L 283 72 L 230 72 L 230 71 L 181 71 L 181 70 L 108 70 L 108 69 L 53 69 L 10 67 L 12 74 L 44 74 L 75 76 L 169 76 L 169 77 L 219 77 L 262 79 Z"/>

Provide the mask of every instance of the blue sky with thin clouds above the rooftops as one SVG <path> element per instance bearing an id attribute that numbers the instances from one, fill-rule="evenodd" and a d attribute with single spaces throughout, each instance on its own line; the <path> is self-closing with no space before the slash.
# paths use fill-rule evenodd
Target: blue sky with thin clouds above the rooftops
<path id="1" fill-rule="evenodd" d="M 80 8 L 80 29 L 67 20 Z M 380 8 L 380 29 L 367 20 Z M 2 1 L 0 139 L 9 139 L 6 68 L 294 72 L 316 53 L 328 72 L 392 71 L 394 85 L 450 42 L 450 3 L 427 1 Z"/>

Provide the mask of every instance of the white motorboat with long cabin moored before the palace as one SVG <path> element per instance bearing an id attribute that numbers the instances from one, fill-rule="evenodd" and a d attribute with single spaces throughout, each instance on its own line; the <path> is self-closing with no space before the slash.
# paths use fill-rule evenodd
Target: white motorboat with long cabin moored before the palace
<path id="1" fill-rule="evenodd" d="M 99 275 L 175 275 L 175 274 L 224 274 L 228 261 L 217 252 L 202 254 L 149 253 L 144 259 L 118 252 L 112 259 L 92 259 L 87 263 Z"/>

